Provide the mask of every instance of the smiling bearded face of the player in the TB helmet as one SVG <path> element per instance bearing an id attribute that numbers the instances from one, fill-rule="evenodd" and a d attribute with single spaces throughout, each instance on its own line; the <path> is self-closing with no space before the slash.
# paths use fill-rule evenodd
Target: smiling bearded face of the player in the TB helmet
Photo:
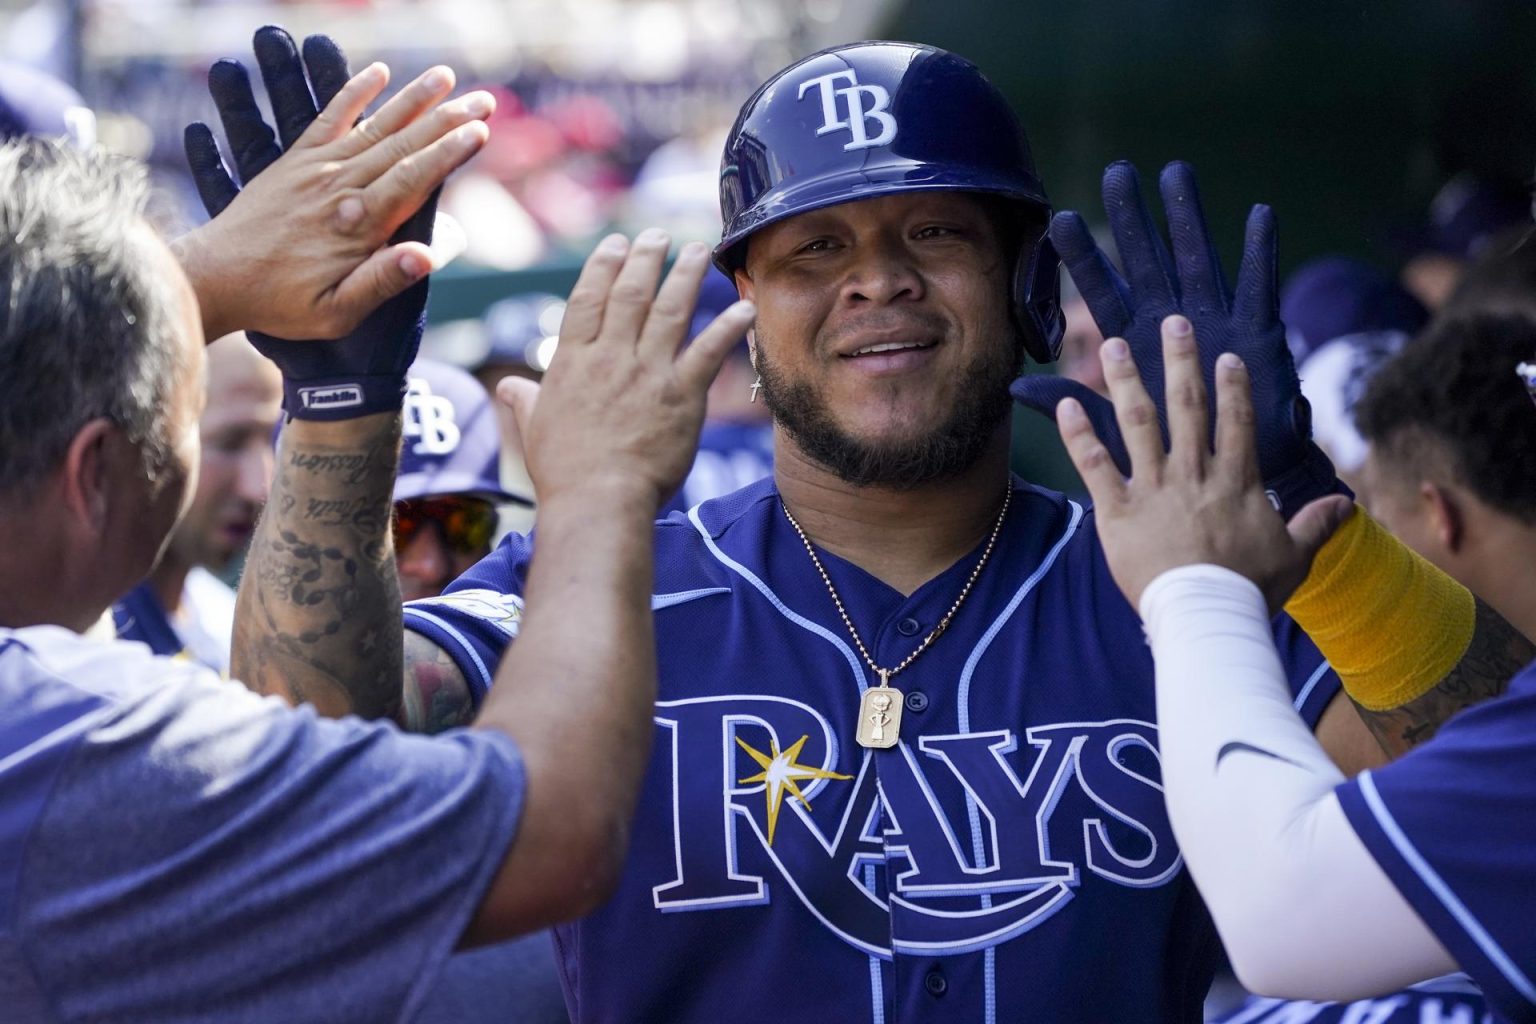
<path id="1" fill-rule="evenodd" d="M 1020 327 L 986 301 L 1006 287 L 1003 253 L 1018 247 L 1000 235 L 1006 213 L 974 195 L 903 193 L 779 221 L 754 238 L 762 256 L 742 272 L 743 287 L 796 307 L 785 327 L 760 313 L 753 344 L 763 399 L 796 451 L 845 484 L 912 490 L 966 473 L 997 444 L 1025 358 Z M 908 232 L 914 241 L 900 243 Z M 829 296 L 809 293 L 856 258 L 854 246 L 831 241 L 840 235 L 860 236 L 866 250 L 908 250 L 943 273 L 880 282 L 865 289 L 876 295 L 829 309 Z M 780 332 L 813 338 L 813 361 Z M 860 401 L 872 404 L 868 415 Z"/>

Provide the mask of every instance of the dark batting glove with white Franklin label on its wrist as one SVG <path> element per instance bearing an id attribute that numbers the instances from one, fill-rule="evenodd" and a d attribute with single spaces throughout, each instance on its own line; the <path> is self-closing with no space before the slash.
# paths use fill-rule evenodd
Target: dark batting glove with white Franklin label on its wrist
<path id="1" fill-rule="evenodd" d="M 207 74 L 207 89 L 240 184 L 220 158 L 214 132 L 201 121 L 186 129 L 187 163 L 209 216 L 229 206 L 240 186 L 266 170 L 313 123 L 352 77 L 341 48 L 327 35 L 310 35 L 300 55 L 293 37 L 276 26 L 257 29 L 257 66 L 272 101 L 276 130 L 266 123 L 250 75 L 238 60 L 220 60 Z M 406 221 L 392 243 L 432 241 L 438 193 Z M 250 342 L 283 370 L 283 408 L 293 419 L 353 419 L 398 411 L 406 396 L 406 372 L 416 359 L 427 324 L 427 281 L 389 299 L 346 338 L 289 341 L 249 332 Z"/>

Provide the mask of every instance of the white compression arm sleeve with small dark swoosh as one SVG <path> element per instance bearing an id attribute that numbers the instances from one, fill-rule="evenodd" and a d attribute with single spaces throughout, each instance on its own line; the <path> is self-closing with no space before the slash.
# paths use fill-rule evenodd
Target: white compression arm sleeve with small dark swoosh
<path id="1" fill-rule="evenodd" d="M 1258 588 L 1215 565 L 1141 594 L 1169 820 L 1253 992 L 1356 999 L 1456 969 L 1355 835 L 1290 705 Z"/>

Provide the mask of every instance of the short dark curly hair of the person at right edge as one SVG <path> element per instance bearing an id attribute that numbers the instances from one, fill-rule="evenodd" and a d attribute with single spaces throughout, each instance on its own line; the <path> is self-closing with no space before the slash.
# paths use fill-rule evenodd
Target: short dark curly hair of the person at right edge
<path id="1" fill-rule="evenodd" d="M 1536 401 L 1514 372 L 1531 361 L 1536 322 L 1525 316 L 1436 321 L 1372 378 L 1355 407 L 1359 433 L 1404 468 L 1427 468 L 1442 450 L 1461 485 L 1536 525 Z"/>

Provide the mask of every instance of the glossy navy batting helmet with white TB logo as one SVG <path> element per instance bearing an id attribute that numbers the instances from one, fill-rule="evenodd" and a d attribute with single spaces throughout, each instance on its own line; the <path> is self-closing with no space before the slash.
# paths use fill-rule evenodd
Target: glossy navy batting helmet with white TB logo
<path id="1" fill-rule="evenodd" d="M 742 106 L 720 160 L 725 230 L 714 263 L 746 238 L 823 206 L 899 192 L 980 192 L 1023 207 L 1014 316 L 1040 362 L 1061 348 L 1051 201 L 1003 94 L 971 61 L 917 43 L 834 46 L 790 64 Z"/>

